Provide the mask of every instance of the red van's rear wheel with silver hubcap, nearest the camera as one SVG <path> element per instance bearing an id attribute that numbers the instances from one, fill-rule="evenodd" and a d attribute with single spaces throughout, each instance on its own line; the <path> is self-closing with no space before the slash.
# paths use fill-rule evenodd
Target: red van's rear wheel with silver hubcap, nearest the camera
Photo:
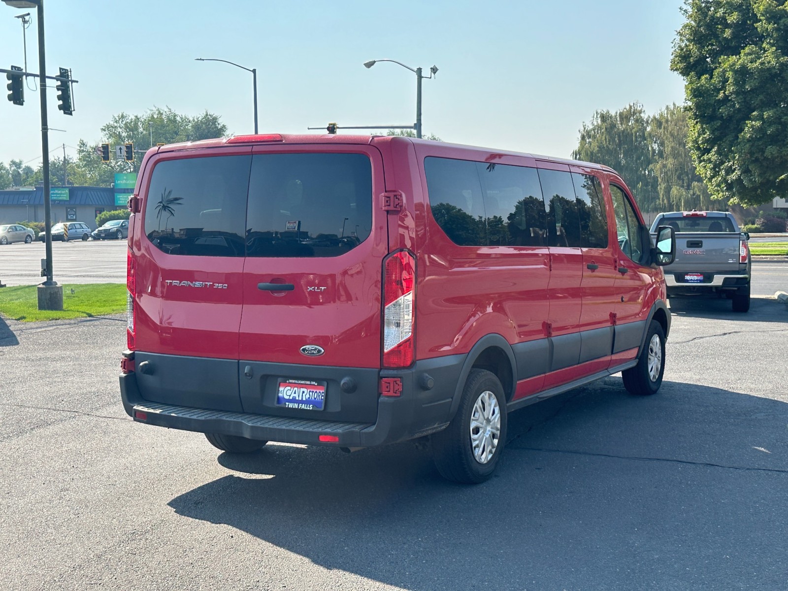
<path id="1" fill-rule="evenodd" d="M 474 427 L 475 422 L 480 426 Z M 490 478 L 504 451 L 506 426 L 506 396 L 500 380 L 487 370 L 470 370 L 452 422 L 432 436 L 433 461 L 440 475 L 463 484 Z M 474 433 L 482 434 L 475 451 Z"/>

